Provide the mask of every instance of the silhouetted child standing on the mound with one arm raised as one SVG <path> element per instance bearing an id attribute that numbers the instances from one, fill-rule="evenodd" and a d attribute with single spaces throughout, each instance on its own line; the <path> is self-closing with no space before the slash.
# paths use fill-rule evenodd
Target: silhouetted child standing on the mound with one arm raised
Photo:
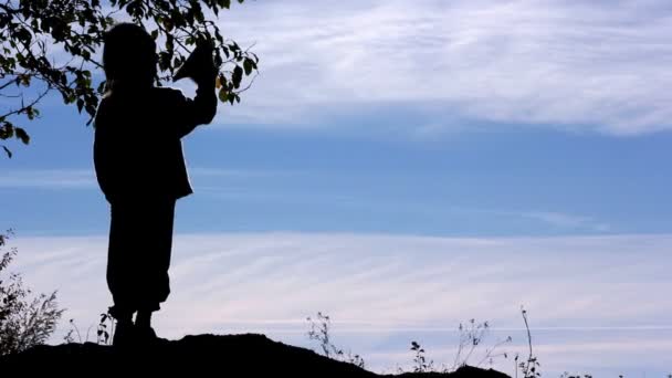
<path id="1" fill-rule="evenodd" d="M 117 319 L 114 345 L 156 339 L 151 313 L 170 293 L 168 266 L 175 202 L 190 195 L 180 138 L 214 117 L 217 69 L 200 62 L 193 99 L 154 86 L 156 44 L 122 23 L 105 36 L 108 93 L 95 117 L 94 164 L 111 204 L 107 285 Z M 133 315 L 137 313 L 135 324 Z"/>

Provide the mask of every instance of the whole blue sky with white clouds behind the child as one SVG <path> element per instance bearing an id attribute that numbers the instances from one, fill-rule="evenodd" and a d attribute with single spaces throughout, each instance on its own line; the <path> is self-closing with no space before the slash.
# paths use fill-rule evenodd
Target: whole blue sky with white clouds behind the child
<path id="1" fill-rule="evenodd" d="M 553 374 L 669 372 L 671 17 L 663 1 L 235 7 L 222 28 L 256 43 L 262 72 L 241 105 L 220 105 L 185 140 L 196 193 L 178 206 L 182 273 L 160 330 L 266 329 L 305 343 L 302 318 L 330 309 L 354 324 L 345 344 L 382 369 L 407 353 L 405 329 L 471 317 L 519 328 L 525 304 L 547 332 Z M 42 113 L 31 145 L 0 160 L 0 225 L 18 232 L 27 281 L 61 287 L 72 316 L 93 319 L 108 298 L 76 284 L 105 292 L 93 130 L 55 96 Z M 418 276 L 403 281 L 399 266 Z M 187 293 L 225 292 L 228 275 L 232 294 L 183 322 L 179 313 L 200 308 Z M 270 306 L 264 287 L 301 291 L 286 276 L 314 291 Z M 416 303 L 411 287 L 441 300 Z M 379 303 L 392 293 L 405 295 Z M 376 337 L 374 323 L 387 325 Z M 419 333 L 434 350 L 454 346 Z"/>

